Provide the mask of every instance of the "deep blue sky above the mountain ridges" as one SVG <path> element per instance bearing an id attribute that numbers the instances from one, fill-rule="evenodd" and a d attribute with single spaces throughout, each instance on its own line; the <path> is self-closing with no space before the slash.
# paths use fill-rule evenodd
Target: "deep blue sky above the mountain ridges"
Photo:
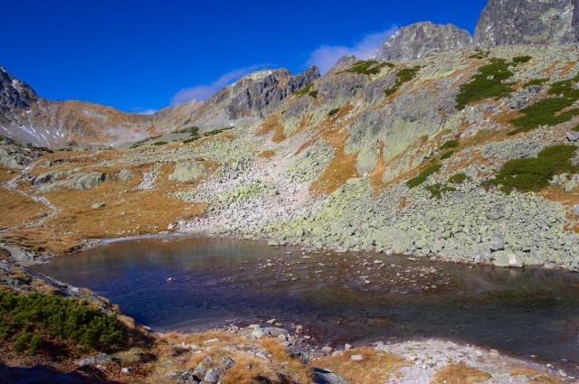
<path id="1" fill-rule="evenodd" d="M 472 33 L 486 3 L 0 0 L 0 65 L 43 98 L 152 111 L 206 98 L 252 70 L 327 67 L 409 23 Z"/>

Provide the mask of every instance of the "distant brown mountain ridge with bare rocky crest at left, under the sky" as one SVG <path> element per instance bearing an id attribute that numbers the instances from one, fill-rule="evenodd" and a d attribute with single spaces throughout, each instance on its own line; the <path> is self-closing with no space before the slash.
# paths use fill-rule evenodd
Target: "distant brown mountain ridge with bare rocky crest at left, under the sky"
<path id="1" fill-rule="evenodd" d="M 295 77 L 285 69 L 264 70 L 238 80 L 204 103 L 187 102 L 143 116 L 81 101 L 40 98 L 0 67 L 0 134 L 39 146 L 119 145 L 190 126 L 247 125 L 318 77 L 315 67 Z"/>

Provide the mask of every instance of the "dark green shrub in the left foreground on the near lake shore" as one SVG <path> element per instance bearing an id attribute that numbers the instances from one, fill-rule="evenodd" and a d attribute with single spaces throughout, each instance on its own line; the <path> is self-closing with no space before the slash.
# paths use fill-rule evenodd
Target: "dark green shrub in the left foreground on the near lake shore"
<path id="1" fill-rule="evenodd" d="M 125 341 L 117 316 L 104 314 L 86 301 L 7 292 L 0 292 L 0 337 L 13 341 L 14 351 L 29 354 L 44 343 L 112 351 Z"/>

